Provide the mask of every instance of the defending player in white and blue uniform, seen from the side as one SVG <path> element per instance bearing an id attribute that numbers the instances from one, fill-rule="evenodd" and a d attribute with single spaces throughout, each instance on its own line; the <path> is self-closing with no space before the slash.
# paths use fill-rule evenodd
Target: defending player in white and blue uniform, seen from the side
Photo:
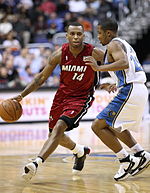
<path id="1" fill-rule="evenodd" d="M 96 60 L 88 56 L 86 64 L 95 71 L 108 71 L 119 89 L 117 96 L 98 114 L 92 124 L 94 133 L 118 157 L 120 168 L 115 180 L 123 180 L 142 172 L 150 165 L 150 153 L 144 151 L 130 134 L 129 130 L 138 130 L 144 107 L 148 98 L 145 86 L 146 76 L 133 48 L 117 37 L 118 25 L 112 19 L 98 24 L 98 38 L 107 45 L 104 65 L 98 66 Z M 103 89 L 112 90 L 114 85 L 104 84 Z M 119 140 L 134 152 L 129 155 Z"/>

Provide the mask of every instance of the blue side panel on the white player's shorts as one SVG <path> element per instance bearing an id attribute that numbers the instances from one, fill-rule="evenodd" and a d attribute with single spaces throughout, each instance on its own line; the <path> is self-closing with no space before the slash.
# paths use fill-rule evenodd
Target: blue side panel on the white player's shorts
<path id="1" fill-rule="evenodd" d="M 132 88 L 132 83 L 126 84 L 123 88 L 121 88 L 117 96 L 114 97 L 114 99 L 103 109 L 101 113 L 97 115 L 96 118 L 104 119 L 109 126 L 114 127 L 115 120 L 129 99 Z"/>

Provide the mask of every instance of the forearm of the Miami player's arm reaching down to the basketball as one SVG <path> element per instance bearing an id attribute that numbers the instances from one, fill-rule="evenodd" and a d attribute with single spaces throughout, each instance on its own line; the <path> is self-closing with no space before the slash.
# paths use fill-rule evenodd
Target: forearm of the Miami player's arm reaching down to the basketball
<path id="1" fill-rule="evenodd" d="M 21 96 L 25 97 L 31 92 L 37 90 L 45 82 L 45 78 L 42 74 L 37 74 L 30 84 L 21 92 Z"/>

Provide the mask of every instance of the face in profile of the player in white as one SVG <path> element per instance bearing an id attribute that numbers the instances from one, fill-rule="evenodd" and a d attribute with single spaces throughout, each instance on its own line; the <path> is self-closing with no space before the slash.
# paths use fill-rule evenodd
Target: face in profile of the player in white
<path id="1" fill-rule="evenodd" d="M 104 31 L 100 25 L 97 27 L 97 32 L 98 32 L 98 39 L 100 43 L 105 46 L 106 44 L 109 43 L 109 34 L 108 31 Z"/>

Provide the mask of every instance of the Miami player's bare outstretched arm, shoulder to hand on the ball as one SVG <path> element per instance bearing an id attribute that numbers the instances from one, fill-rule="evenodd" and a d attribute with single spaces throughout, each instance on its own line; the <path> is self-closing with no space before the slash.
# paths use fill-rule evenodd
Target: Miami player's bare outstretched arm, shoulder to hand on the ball
<path id="1" fill-rule="evenodd" d="M 21 101 L 23 97 L 27 96 L 29 93 L 41 87 L 42 84 L 52 74 L 57 64 L 60 64 L 60 60 L 61 60 L 61 48 L 52 54 L 52 56 L 48 59 L 45 68 L 35 76 L 35 78 L 31 81 L 30 84 L 26 86 L 26 88 L 21 92 L 20 95 L 14 97 L 13 99 Z"/>

